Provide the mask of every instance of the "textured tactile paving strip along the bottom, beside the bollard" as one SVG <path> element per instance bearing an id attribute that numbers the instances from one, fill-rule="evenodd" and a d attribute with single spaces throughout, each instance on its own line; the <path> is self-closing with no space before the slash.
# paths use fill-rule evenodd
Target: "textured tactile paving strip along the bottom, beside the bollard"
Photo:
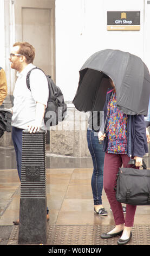
<path id="1" fill-rule="evenodd" d="M 119 237 L 101 239 L 110 225 L 48 225 L 47 245 L 117 245 Z M 14 226 L 8 245 L 17 245 L 18 227 Z M 134 225 L 127 245 L 150 245 L 150 225 Z"/>

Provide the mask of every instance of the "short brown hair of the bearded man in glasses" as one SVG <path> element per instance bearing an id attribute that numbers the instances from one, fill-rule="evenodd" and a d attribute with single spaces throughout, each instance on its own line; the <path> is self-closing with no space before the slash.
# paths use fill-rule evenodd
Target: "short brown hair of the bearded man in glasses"
<path id="1" fill-rule="evenodd" d="M 29 42 L 15 42 L 13 46 L 19 46 L 18 54 L 25 57 L 26 63 L 33 63 L 35 58 L 35 48 Z"/>

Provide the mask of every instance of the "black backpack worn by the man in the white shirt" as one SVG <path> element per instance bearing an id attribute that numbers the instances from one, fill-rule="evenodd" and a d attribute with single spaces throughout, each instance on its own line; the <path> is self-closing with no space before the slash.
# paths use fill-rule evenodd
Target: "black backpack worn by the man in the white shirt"
<path id="1" fill-rule="evenodd" d="M 26 78 L 27 87 L 30 89 L 30 73 L 34 69 L 40 68 L 32 68 Z M 42 69 L 40 69 L 43 71 Z M 44 73 L 44 71 L 43 71 Z M 44 73 L 45 74 L 45 73 Z M 58 121 L 63 121 L 67 114 L 67 104 L 64 103 L 63 94 L 61 89 L 56 86 L 54 81 L 51 79 L 51 76 L 45 75 L 48 80 L 48 88 L 49 88 L 49 98 L 47 103 L 47 108 L 45 109 L 44 114 L 44 123 L 45 126 L 48 128 L 49 126 L 54 126 L 58 124 Z"/>

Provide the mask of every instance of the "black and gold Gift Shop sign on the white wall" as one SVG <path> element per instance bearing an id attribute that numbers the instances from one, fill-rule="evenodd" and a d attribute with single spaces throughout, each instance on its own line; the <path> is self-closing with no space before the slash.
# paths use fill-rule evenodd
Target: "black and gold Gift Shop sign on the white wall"
<path id="1" fill-rule="evenodd" d="M 140 11 L 107 11 L 107 30 L 140 30 Z"/>

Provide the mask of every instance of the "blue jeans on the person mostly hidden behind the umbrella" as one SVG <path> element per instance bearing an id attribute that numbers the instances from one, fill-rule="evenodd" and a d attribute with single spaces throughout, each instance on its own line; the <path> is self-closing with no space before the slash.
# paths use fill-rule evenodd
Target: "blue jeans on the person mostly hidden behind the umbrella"
<path id="1" fill-rule="evenodd" d="M 98 205 L 102 204 L 103 163 L 105 153 L 102 151 L 103 143 L 99 143 L 97 132 L 87 129 L 87 143 L 93 160 L 93 174 L 91 179 L 91 186 L 94 205 Z"/>

